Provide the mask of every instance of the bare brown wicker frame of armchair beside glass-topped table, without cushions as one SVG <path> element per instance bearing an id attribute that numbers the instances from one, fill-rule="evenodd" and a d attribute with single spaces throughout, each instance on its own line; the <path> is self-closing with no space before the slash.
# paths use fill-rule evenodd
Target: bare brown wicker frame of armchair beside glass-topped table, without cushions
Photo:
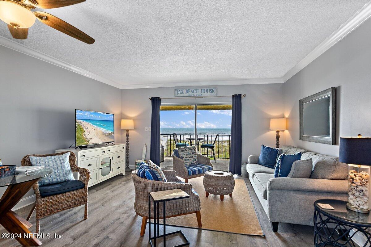
<path id="1" fill-rule="evenodd" d="M 70 153 L 69 156 L 69 163 L 72 172 L 78 172 L 79 173 L 79 181 L 85 184 L 84 188 L 81 188 L 79 190 L 74 190 L 70 192 L 66 192 L 63 194 L 58 194 L 54 196 L 47 196 L 47 197 L 41 197 L 40 191 L 39 191 L 39 183 L 35 183 L 33 185 L 33 191 L 36 195 L 36 202 L 33 208 L 30 211 L 29 216 L 27 217 L 27 220 L 29 220 L 32 216 L 33 211 L 35 211 L 36 208 L 36 233 L 40 232 L 40 219 L 45 216 L 49 216 L 51 214 L 58 213 L 60 211 L 81 206 L 85 204 L 85 215 L 84 220 L 88 218 L 88 182 L 89 182 L 89 176 L 90 172 L 88 169 L 77 167 L 76 166 L 76 156 L 72 152 L 63 152 L 58 154 L 29 154 L 27 156 L 24 156 L 22 159 L 22 166 L 31 166 L 30 156 L 36 156 L 36 157 L 47 157 L 47 156 L 56 156 L 56 155 L 62 155 L 65 153 Z"/>

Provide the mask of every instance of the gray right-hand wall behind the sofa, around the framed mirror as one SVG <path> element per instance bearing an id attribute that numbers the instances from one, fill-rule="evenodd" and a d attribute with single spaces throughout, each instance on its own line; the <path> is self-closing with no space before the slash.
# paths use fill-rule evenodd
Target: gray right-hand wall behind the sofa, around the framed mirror
<path id="1" fill-rule="evenodd" d="M 371 136 L 371 19 L 283 84 L 286 144 L 339 155 L 339 137 Z M 299 140 L 299 100 L 336 87 L 337 141 L 326 145 Z"/>

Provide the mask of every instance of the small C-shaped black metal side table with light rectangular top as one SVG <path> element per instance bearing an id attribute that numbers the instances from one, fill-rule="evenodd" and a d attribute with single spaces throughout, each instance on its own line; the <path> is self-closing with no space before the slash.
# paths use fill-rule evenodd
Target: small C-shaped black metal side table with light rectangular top
<path id="1" fill-rule="evenodd" d="M 181 189 L 175 189 L 175 190 L 163 190 L 163 191 L 156 191 L 156 192 L 151 192 L 148 193 L 148 218 L 149 218 L 149 227 L 148 227 L 148 241 L 150 241 L 150 244 L 152 247 L 156 247 L 157 243 L 156 240 L 157 238 L 163 237 L 163 242 L 164 242 L 164 247 L 166 247 L 166 236 L 172 235 L 172 234 L 177 234 L 180 233 L 186 243 L 179 244 L 177 246 L 173 247 L 181 247 L 181 246 L 186 246 L 189 245 L 189 241 L 187 237 L 184 236 L 183 232 L 181 230 L 179 231 L 173 231 L 171 233 L 166 233 L 166 202 L 167 201 L 172 201 L 172 200 L 177 200 L 177 199 L 183 199 L 183 198 L 188 198 L 189 195 L 185 193 Z M 151 237 L 151 200 L 153 201 L 153 224 L 154 224 L 154 236 Z M 163 231 L 164 233 L 160 235 L 160 206 L 159 203 L 162 202 L 163 206 L 163 219 L 164 222 L 162 224 L 163 226 Z M 154 240 L 154 243 L 152 244 L 152 240 Z"/>

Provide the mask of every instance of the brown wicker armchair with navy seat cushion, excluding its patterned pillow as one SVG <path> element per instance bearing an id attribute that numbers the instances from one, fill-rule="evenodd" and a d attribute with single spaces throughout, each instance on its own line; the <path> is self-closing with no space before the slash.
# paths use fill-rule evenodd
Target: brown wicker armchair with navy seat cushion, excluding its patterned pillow
<path id="1" fill-rule="evenodd" d="M 30 211 L 27 220 L 30 220 L 36 208 L 36 233 L 40 232 L 40 219 L 60 211 L 85 205 L 84 220 L 88 218 L 88 181 L 90 173 L 88 169 L 76 166 L 76 156 L 72 152 L 58 154 L 29 154 L 22 159 L 22 166 L 32 166 L 30 156 L 48 157 L 60 156 L 70 153 L 69 164 L 72 172 L 79 173 L 79 180 L 69 180 L 62 183 L 46 184 L 39 186 L 36 182 L 33 191 L 36 195 L 36 202 Z"/>

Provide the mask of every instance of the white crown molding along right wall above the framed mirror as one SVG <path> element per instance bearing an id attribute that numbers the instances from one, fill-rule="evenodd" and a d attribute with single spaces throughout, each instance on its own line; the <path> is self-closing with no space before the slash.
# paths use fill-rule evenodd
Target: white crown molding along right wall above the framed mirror
<path id="1" fill-rule="evenodd" d="M 290 69 L 283 77 L 282 81 L 286 82 L 296 73 L 301 71 L 309 63 L 321 56 L 325 51 L 330 49 L 345 36 L 351 33 L 354 29 L 364 23 L 368 18 L 371 17 L 371 1 L 368 1 L 360 10 L 357 11 L 352 17 L 350 17 L 344 24 L 342 24 L 334 33 L 332 33 L 327 39 L 325 39 L 319 46 L 317 46 L 311 53 L 304 57 L 298 64 Z"/>

